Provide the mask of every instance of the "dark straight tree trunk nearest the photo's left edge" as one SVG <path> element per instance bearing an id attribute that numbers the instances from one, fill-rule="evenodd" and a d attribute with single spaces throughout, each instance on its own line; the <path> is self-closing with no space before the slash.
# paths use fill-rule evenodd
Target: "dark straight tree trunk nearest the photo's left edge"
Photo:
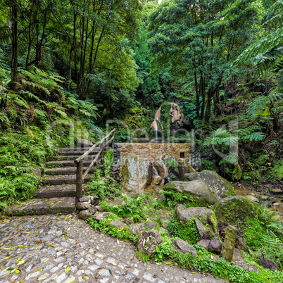
<path id="1" fill-rule="evenodd" d="M 18 73 L 18 0 L 12 1 L 12 62 L 11 78 Z"/>

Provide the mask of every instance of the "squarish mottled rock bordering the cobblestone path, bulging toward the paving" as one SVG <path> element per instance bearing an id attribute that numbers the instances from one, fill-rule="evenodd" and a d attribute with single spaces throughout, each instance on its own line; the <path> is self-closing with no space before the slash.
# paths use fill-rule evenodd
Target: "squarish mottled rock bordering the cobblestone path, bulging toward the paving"
<path id="1" fill-rule="evenodd" d="M 137 247 L 140 253 L 145 253 L 149 257 L 154 256 L 156 253 L 156 246 L 158 246 L 156 234 L 153 231 L 142 231 L 139 234 L 139 241 Z"/>

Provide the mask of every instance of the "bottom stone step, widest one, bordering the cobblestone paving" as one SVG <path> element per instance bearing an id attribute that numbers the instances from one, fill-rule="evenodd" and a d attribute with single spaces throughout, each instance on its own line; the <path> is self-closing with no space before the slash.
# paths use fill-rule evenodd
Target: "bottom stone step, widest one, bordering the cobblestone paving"
<path id="1" fill-rule="evenodd" d="M 73 213 L 75 198 L 32 199 L 8 208 L 8 215 L 43 215 Z"/>

